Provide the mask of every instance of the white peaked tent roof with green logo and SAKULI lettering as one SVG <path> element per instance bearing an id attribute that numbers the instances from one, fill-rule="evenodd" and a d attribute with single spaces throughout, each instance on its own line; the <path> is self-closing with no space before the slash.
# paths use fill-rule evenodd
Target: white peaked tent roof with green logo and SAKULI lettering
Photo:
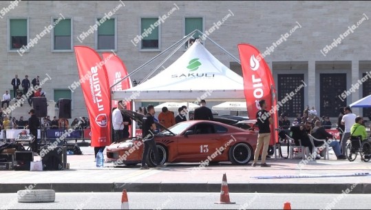
<path id="1" fill-rule="evenodd" d="M 241 101 L 244 82 L 199 42 L 153 78 L 128 90 L 113 91 L 114 100 L 140 101 Z"/>

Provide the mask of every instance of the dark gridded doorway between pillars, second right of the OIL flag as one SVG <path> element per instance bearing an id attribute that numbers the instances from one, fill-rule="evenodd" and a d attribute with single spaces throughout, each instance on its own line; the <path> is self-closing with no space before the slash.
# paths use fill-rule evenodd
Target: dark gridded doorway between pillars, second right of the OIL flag
<path id="1" fill-rule="evenodd" d="M 320 74 L 320 116 L 337 117 L 339 108 L 346 107 L 346 100 L 339 96 L 346 90 L 346 74 Z"/>

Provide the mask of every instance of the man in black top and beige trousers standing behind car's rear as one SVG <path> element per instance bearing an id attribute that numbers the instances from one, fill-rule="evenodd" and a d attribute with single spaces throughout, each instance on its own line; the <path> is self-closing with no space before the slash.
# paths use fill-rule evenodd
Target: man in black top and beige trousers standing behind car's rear
<path id="1" fill-rule="evenodd" d="M 252 167 L 256 166 L 257 158 L 259 158 L 260 149 L 263 147 L 262 151 L 262 162 L 261 167 L 271 167 L 271 165 L 266 164 L 266 155 L 268 154 L 269 140 L 271 140 L 271 127 L 273 120 L 270 115 L 268 117 L 265 115 L 266 111 L 266 101 L 259 101 L 260 110 L 256 113 L 257 127 L 259 127 L 259 134 L 257 135 L 257 145 L 254 154 L 254 162 Z"/>

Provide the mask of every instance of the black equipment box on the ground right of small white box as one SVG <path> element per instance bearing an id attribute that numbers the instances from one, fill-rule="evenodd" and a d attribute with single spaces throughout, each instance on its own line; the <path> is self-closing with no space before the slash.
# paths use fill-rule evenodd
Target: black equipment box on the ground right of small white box
<path id="1" fill-rule="evenodd" d="M 43 169 L 46 171 L 56 171 L 67 168 L 67 147 L 43 146 L 40 148 L 42 157 Z"/>

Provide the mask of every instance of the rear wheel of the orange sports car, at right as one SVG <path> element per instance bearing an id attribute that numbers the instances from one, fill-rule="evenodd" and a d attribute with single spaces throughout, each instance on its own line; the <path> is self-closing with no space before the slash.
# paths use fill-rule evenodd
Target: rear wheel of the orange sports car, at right
<path id="1" fill-rule="evenodd" d="M 229 149 L 229 161 L 233 165 L 246 165 L 253 158 L 253 149 L 245 143 L 237 143 Z"/>

